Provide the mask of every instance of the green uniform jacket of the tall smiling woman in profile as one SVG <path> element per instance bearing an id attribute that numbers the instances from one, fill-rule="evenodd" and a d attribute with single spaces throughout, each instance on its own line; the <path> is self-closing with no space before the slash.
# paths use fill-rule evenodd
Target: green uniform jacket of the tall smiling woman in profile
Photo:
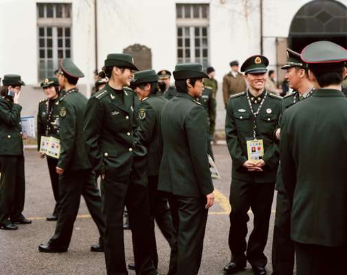
<path id="1" fill-rule="evenodd" d="M 131 175 L 134 107 L 131 89 L 116 94 L 109 84 L 88 100 L 84 131 L 89 160 L 96 173 L 117 182 L 127 183 Z"/>

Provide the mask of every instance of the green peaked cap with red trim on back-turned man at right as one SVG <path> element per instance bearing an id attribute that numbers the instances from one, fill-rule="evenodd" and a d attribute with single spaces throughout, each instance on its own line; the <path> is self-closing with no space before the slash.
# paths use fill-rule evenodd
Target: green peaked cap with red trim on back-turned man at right
<path id="1" fill-rule="evenodd" d="M 347 61 L 347 50 L 330 41 L 317 41 L 302 50 L 301 58 L 313 71 L 337 72 Z"/>

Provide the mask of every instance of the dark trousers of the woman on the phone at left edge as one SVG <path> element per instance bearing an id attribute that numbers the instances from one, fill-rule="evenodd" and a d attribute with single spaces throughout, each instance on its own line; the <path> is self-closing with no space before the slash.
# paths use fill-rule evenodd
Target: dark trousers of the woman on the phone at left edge
<path id="1" fill-rule="evenodd" d="M 0 155 L 0 173 L 0 223 L 24 219 L 24 156 Z"/>

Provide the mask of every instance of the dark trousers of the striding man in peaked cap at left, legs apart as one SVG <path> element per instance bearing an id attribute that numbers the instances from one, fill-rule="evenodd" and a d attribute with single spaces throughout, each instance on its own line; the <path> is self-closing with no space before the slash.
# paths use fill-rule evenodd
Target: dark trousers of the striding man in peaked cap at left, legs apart
<path id="1" fill-rule="evenodd" d="M 65 171 L 59 176 L 60 212 L 56 223 L 56 232 L 49 240 L 54 248 L 68 248 L 74 222 L 80 208 L 80 197 L 84 197 L 91 218 L 100 232 L 100 242 L 104 234 L 104 220 L 102 219 L 102 202 L 96 186 L 95 175 L 92 170 Z"/>

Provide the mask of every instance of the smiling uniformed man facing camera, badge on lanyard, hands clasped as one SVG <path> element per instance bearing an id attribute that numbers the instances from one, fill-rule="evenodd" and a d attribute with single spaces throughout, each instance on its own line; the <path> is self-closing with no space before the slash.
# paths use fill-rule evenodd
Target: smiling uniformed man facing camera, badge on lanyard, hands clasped
<path id="1" fill-rule="evenodd" d="M 231 96 L 227 103 L 225 134 L 232 157 L 229 232 L 232 260 L 223 269 L 226 274 L 243 270 L 246 261 L 254 274 L 266 274 L 264 248 L 279 160 L 273 131 L 278 125 L 281 100 L 265 89 L 267 65 L 265 56 L 247 58 L 241 72 L 245 72 L 249 89 Z M 254 213 L 254 229 L 247 243 L 249 208 Z"/>

